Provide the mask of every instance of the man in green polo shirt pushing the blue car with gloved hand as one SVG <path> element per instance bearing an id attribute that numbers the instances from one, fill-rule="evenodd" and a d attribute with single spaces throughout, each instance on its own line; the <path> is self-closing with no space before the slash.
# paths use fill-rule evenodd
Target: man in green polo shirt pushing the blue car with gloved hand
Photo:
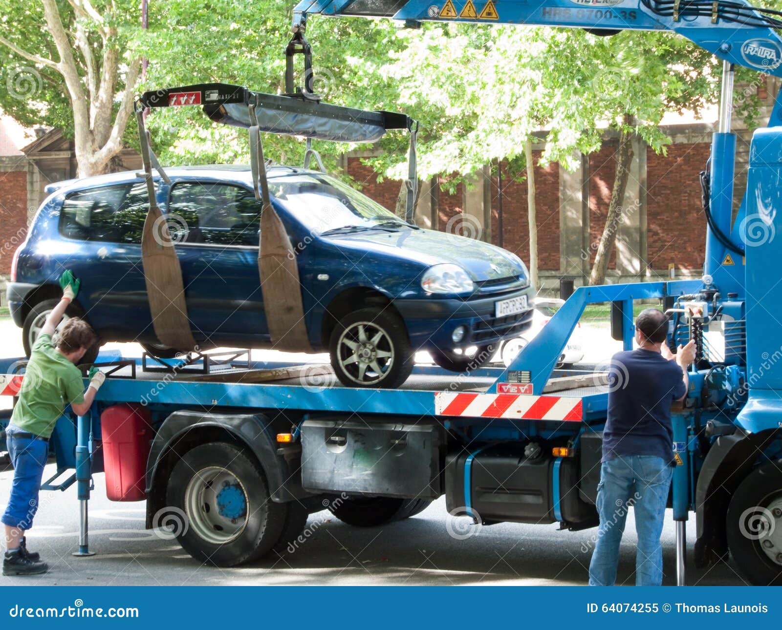
<path id="1" fill-rule="evenodd" d="M 48 565 L 41 562 L 38 553 L 27 551 L 24 540 L 24 532 L 32 526 L 38 509 L 38 489 L 48 456 L 48 438 L 67 405 L 70 404 L 77 415 L 88 412 L 95 393 L 106 378 L 93 368 L 90 384 L 84 392 L 81 371 L 76 366 L 98 341 L 95 331 L 84 320 L 78 317 L 67 320 L 59 331 L 56 347 L 52 345 L 52 335 L 81 283 L 66 271 L 59 284 L 63 287 L 63 299 L 49 313 L 35 340 L 19 400 L 5 431 L 14 474 L 8 507 L 0 519 L 5 525 L 2 575 L 34 575 L 48 571 Z"/>

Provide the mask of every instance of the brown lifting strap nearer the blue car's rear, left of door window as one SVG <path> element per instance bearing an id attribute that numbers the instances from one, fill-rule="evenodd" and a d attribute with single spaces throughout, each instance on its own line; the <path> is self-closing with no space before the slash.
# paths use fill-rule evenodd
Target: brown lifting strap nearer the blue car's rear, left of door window
<path id="1" fill-rule="evenodd" d="M 149 195 L 149 211 L 142 231 L 142 265 L 146 282 L 149 311 L 152 313 L 152 328 L 158 341 L 177 350 L 195 349 L 195 339 L 190 331 L 188 307 L 185 303 L 185 285 L 174 243 L 168 231 L 166 217 L 160 211 L 155 196 L 155 182 L 152 180 L 152 165 L 170 181 L 160 168 L 152 153 L 149 132 L 144 126 L 144 107 L 135 107 L 138 122 L 138 139 L 141 145 L 144 177 Z"/>

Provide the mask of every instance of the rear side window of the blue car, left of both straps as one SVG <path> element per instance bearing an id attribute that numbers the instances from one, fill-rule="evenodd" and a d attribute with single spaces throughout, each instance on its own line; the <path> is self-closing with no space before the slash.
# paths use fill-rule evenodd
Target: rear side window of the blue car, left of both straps
<path id="1" fill-rule="evenodd" d="M 145 182 L 74 192 L 60 209 L 59 232 L 79 241 L 140 243 L 148 210 Z"/>

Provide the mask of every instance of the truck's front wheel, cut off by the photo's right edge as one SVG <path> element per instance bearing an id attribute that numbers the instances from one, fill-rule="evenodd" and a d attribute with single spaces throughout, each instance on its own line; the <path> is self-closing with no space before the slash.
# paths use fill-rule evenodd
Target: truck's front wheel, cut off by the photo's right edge
<path id="1" fill-rule="evenodd" d="M 747 475 L 728 507 L 730 555 L 755 585 L 782 585 L 782 464 Z"/>

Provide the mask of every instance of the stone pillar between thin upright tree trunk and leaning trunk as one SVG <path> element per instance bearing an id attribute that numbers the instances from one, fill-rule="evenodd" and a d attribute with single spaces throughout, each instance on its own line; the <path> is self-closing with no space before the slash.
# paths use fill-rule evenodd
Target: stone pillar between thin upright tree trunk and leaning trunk
<path id="1" fill-rule="evenodd" d="M 589 275 L 589 159 L 574 156 L 576 170 L 559 166 L 559 271 L 585 281 Z"/>

